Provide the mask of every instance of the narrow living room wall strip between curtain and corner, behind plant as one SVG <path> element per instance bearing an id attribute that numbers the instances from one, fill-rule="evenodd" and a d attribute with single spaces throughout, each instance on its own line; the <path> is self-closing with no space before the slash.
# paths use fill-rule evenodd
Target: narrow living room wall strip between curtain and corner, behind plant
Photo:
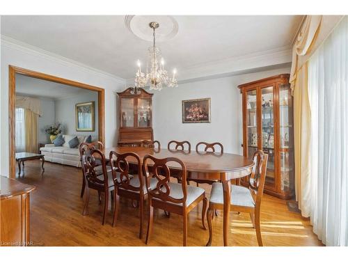
<path id="1" fill-rule="evenodd" d="M 40 97 L 41 102 L 41 116 L 38 120 L 38 142 L 50 143 L 49 134 L 45 132 L 45 127 L 54 124 L 55 111 L 54 100 Z"/>

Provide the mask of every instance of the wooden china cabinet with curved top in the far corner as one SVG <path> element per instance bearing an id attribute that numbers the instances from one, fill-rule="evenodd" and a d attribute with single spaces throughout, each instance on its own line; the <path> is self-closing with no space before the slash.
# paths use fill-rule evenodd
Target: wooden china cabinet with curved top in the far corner
<path id="1" fill-rule="evenodd" d="M 118 145 L 140 146 L 153 141 L 152 95 L 143 88 L 127 88 L 118 93 Z"/>

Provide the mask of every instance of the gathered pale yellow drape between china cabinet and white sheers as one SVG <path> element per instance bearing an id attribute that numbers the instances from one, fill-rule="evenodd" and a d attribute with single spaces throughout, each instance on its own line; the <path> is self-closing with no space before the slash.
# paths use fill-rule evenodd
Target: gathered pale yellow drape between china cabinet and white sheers
<path id="1" fill-rule="evenodd" d="M 308 216 L 310 191 L 310 106 L 308 100 L 308 55 L 319 31 L 321 15 L 308 15 L 292 50 L 290 84 L 294 95 L 295 193 L 303 216 Z"/>

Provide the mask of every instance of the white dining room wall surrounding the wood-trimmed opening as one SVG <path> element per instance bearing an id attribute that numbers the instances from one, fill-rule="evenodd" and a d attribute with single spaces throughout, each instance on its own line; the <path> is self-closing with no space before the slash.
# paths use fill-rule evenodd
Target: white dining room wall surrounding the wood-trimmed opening
<path id="1" fill-rule="evenodd" d="M 1 40 L 1 175 L 9 174 L 8 65 L 15 65 L 104 88 L 105 144 L 106 147 L 116 145 L 116 94 L 114 92 L 125 89 L 125 80 L 111 77 L 109 74 L 92 70 L 77 63 L 72 63 L 68 59 L 50 56 Z"/>

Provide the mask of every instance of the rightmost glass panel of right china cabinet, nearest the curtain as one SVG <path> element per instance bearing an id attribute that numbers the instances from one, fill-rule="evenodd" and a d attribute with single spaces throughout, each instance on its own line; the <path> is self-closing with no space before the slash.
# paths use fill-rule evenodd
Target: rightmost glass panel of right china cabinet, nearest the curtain
<path id="1" fill-rule="evenodd" d="M 290 94 L 290 84 L 280 84 L 279 86 L 279 127 L 280 127 L 280 189 L 290 191 L 294 188 L 293 153 L 292 144 L 292 95 Z"/>

